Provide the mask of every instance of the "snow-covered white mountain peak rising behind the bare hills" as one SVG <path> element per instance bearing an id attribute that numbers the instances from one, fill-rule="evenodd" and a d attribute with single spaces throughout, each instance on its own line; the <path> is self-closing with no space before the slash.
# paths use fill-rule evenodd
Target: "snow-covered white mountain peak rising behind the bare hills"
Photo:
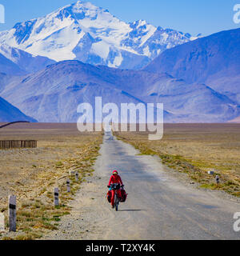
<path id="1" fill-rule="evenodd" d="M 122 22 L 108 10 L 82 1 L 0 32 L 0 44 L 35 56 L 122 69 L 146 66 L 162 51 L 193 39 L 143 20 Z"/>

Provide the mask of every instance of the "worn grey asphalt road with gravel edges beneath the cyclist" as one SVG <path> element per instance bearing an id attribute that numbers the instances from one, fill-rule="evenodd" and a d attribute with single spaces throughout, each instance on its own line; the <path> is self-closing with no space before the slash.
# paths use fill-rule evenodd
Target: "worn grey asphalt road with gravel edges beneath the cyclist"
<path id="1" fill-rule="evenodd" d="M 133 146 L 106 133 L 88 179 L 49 239 L 239 239 L 234 213 L 240 204 L 218 191 L 187 186 L 160 159 L 139 155 Z M 118 170 L 129 194 L 118 212 L 106 201 L 112 170 Z M 190 182 L 188 182 L 189 184 Z"/>

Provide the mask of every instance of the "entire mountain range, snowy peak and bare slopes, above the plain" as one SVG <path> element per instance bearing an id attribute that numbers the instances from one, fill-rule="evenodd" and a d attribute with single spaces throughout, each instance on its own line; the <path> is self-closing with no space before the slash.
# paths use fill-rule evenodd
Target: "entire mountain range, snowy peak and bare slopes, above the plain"
<path id="1" fill-rule="evenodd" d="M 164 103 L 165 122 L 238 120 L 239 42 L 240 29 L 193 38 L 78 1 L 0 32 L 2 117 L 77 122 L 101 96 Z"/>

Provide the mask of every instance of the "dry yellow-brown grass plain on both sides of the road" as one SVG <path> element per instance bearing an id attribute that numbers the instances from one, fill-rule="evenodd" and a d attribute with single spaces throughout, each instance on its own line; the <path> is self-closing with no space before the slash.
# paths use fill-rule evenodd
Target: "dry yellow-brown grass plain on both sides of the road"
<path id="1" fill-rule="evenodd" d="M 149 141 L 148 134 L 142 132 L 114 135 L 143 155 L 157 155 L 179 178 L 185 175 L 203 190 L 223 190 L 237 198 L 240 197 L 239 128 L 239 124 L 166 124 L 161 141 Z M 2 234 L 2 239 L 44 238 L 54 230 L 61 233 L 58 225 L 62 216 L 71 214 L 68 202 L 74 199 L 81 182 L 93 174 L 102 135 L 79 133 L 76 124 L 18 124 L 0 130 L 0 140 L 38 140 L 36 149 L 0 150 L 0 211 L 7 215 L 9 194 L 18 197 L 18 232 Z M 69 170 L 77 170 L 80 181 L 71 178 L 72 190 L 67 194 Z M 207 173 L 209 170 L 219 175 L 218 186 L 214 176 Z M 61 191 L 61 205 L 57 208 L 53 206 L 56 186 Z M 106 188 L 103 190 L 102 194 Z"/>

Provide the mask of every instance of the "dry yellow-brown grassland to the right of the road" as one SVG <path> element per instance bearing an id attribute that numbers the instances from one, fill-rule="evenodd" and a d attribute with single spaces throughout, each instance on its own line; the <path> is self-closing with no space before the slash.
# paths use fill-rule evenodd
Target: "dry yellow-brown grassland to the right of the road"
<path id="1" fill-rule="evenodd" d="M 157 154 L 164 164 L 187 173 L 203 188 L 240 197 L 239 124 L 167 124 L 161 141 L 149 141 L 141 132 L 115 134 L 142 154 Z M 220 185 L 209 170 L 219 175 Z"/>

